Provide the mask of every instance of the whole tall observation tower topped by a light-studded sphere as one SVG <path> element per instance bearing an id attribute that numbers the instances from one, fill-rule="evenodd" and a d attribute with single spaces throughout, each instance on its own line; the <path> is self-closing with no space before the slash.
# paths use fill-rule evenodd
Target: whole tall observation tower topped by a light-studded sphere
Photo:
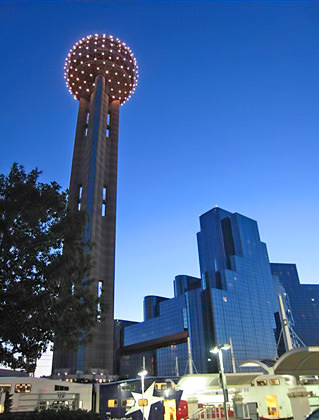
<path id="1" fill-rule="evenodd" d="M 113 373 L 113 307 L 119 110 L 135 90 L 138 66 L 125 43 L 108 35 L 78 41 L 65 61 L 70 93 L 79 100 L 69 203 L 86 210 L 92 244 L 90 287 L 105 308 L 93 340 L 77 352 L 57 349 L 53 374 Z M 103 292 L 102 292 L 103 291 Z"/>

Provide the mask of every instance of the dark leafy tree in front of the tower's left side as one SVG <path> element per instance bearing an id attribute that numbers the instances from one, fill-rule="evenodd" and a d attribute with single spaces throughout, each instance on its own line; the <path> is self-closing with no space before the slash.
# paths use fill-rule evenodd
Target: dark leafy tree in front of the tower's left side
<path id="1" fill-rule="evenodd" d="M 97 316 L 83 285 L 86 215 L 40 173 L 14 164 L 0 175 L 0 362 L 27 371 L 57 336 L 68 349 L 88 340 Z"/>

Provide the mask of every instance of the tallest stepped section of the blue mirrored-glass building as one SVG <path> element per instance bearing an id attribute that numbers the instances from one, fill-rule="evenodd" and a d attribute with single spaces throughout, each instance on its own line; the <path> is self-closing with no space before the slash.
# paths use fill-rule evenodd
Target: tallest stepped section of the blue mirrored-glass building
<path id="1" fill-rule="evenodd" d="M 212 345 L 231 339 L 237 368 L 245 359 L 274 359 L 278 303 L 257 222 L 214 208 L 200 217 L 200 226 L 199 261 L 202 289 L 210 303 Z M 230 356 L 225 360 L 228 371 Z"/>

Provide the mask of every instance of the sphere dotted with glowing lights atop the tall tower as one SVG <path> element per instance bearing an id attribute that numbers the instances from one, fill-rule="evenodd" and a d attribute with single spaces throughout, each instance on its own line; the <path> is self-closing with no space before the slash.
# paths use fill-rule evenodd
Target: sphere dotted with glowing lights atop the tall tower
<path id="1" fill-rule="evenodd" d="M 75 99 L 89 99 L 98 75 L 105 77 L 110 97 L 121 104 L 134 93 L 138 79 L 136 59 L 118 38 L 105 34 L 88 35 L 69 51 L 64 78 Z"/>

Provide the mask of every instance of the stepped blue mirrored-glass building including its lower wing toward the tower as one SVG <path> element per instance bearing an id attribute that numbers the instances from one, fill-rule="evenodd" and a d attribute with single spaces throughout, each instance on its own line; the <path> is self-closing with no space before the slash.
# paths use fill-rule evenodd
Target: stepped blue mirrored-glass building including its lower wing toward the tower
<path id="1" fill-rule="evenodd" d="M 145 298 L 144 322 L 124 328 L 122 377 L 136 375 L 143 357 L 149 374 L 188 372 L 188 339 L 199 373 L 217 370 L 210 350 L 230 340 L 228 372 L 277 356 L 277 295 L 257 223 L 216 207 L 200 217 L 197 238 L 201 278 L 177 276 L 172 299 Z"/>

